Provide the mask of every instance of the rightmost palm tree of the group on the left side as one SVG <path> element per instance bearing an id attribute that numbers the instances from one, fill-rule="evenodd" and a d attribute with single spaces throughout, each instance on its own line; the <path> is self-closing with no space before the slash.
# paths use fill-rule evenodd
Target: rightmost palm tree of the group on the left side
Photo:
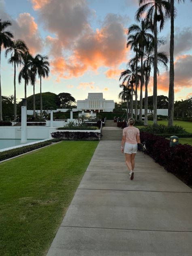
<path id="1" fill-rule="evenodd" d="M 43 115 L 43 105 L 42 105 L 42 93 L 41 93 L 41 79 L 42 77 L 49 77 L 49 62 L 48 56 L 42 56 L 38 54 L 38 63 L 37 63 L 37 73 L 40 77 L 40 109 L 41 109 L 41 116 Z"/>

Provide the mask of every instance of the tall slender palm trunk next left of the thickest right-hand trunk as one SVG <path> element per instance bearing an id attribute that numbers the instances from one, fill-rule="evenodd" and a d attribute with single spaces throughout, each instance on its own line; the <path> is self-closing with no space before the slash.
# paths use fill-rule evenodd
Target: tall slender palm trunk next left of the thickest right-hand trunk
<path id="1" fill-rule="evenodd" d="M 157 7 L 155 7 L 154 19 L 154 92 L 153 92 L 153 107 L 154 107 L 154 124 L 157 123 Z"/>

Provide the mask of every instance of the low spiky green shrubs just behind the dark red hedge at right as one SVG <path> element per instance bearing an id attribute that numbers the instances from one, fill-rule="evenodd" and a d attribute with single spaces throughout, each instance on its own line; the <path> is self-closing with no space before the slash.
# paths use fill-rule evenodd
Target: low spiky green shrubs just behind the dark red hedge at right
<path id="1" fill-rule="evenodd" d="M 140 129 L 140 131 L 143 131 L 143 132 L 149 132 L 149 133 L 152 133 L 152 134 L 161 134 L 161 133 L 164 133 L 164 134 L 186 134 L 186 130 L 182 127 L 182 126 L 178 126 L 178 125 L 175 125 L 175 126 L 166 126 L 164 124 L 153 124 L 153 125 L 149 125 L 147 127 L 143 127 Z"/>

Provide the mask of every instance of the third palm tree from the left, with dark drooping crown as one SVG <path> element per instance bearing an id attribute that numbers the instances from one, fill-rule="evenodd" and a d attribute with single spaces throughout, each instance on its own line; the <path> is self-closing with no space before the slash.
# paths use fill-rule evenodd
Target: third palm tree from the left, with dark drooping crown
<path id="1" fill-rule="evenodd" d="M 27 85 L 30 83 L 33 83 L 33 73 L 31 70 L 31 60 L 32 55 L 26 51 L 24 53 L 21 53 L 21 64 L 23 65 L 23 68 L 21 69 L 18 77 L 19 84 L 21 83 L 21 79 L 24 79 L 25 85 L 25 98 L 27 98 Z"/>

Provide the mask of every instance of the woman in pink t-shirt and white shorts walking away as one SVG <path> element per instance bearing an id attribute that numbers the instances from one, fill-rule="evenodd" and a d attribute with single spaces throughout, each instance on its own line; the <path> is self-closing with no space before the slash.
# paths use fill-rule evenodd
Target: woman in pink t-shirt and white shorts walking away
<path id="1" fill-rule="evenodd" d="M 137 153 L 137 143 L 141 143 L 139 129 L 134 127 L 134 118 L 128 119 L 128 127 L 123 129 L 121 151 L 125 153 L 125 160 L 130 179 L 134 177 L 134 157 Z"/>

